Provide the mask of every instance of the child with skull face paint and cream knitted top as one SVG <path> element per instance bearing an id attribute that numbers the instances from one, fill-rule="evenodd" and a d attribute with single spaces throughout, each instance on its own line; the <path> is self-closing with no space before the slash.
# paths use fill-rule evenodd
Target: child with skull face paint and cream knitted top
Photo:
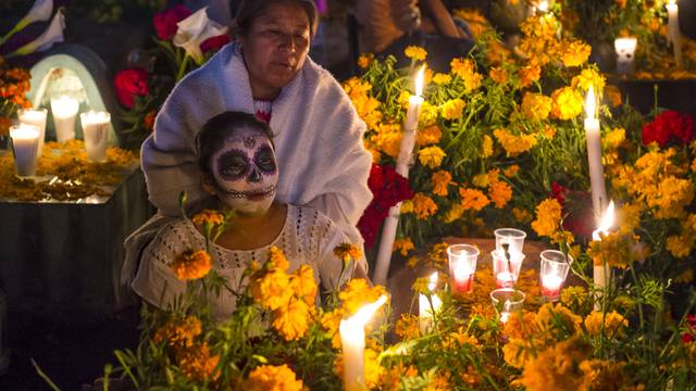
<path id="1" fill-rule="evenodd" d="M 213 268 L 229 287 L 239 287 L 241 274 L 252 260 L 263 263 L 271 247 L 279 248 L 290 267 L 309 264 L 314 279 L 334 289 L 353 272 L 365 277 L 364 257 L 348 267 L 339 281 L 343 262 L 333 251 L 348 242 L 346 236 L 321 212 L 275 201 L 278 167 L 270 127 L 252 114 L 223 112 L 212 117 L 197 138 L 201 186 L 219 202 L 222 211 L 234 211 L 232 225 L 211 243 Z M 162 227 L 144 251 L 132 283 L 146 302 L 166 308 L 185 292 L 186 282 L 170 268 L 174 258 L 192 249 L 206 249 L 201 227 L 181 218 Z M 235 310 L 235 297 L 222 291 L 209 298 L 214 318 L 221 320 Z"/>

